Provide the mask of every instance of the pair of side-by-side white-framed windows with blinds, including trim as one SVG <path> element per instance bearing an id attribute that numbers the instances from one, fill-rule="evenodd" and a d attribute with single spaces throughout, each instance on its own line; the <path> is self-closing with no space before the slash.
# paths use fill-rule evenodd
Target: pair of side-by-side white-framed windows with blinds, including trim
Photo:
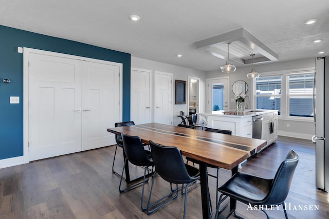
<path id="1" fill-rule="evenodd" d="M 255 107 L 274 109 L 285 120 L 313 121 L 315 69 L 264 72 L 254 79 Z"/>

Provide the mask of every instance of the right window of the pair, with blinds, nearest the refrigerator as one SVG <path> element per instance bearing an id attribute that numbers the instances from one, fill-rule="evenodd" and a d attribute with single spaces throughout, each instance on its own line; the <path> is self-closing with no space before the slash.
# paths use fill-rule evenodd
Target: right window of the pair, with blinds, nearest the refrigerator
<path id="1" fill-rule="evenodd" d="M 313 117 L 313 80 L 314 73 L 288 74 L 288 112 L 289 116 Z"/>

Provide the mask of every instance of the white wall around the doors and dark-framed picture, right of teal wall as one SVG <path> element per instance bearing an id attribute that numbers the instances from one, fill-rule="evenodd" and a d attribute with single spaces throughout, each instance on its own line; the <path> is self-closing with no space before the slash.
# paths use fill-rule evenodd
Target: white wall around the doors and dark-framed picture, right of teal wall
<path id="1" fill-rule="evenodd" d="M 166 63 L 155 62 L 149 59 L 143 59 L 131 56 L 131 68 L 141 68 L 141 69 L 148 69 L 152 70 L 152 75 L 154 76 L 154 71 L 162 71 L 167 73 L 172 73 L 174 75 L 173 81 L 173 125 L 178 125 L 181 122 L 181 119 L 177 117 L 180 111 L 184 111 L 187 115 L 188 105 L 187 104 L 175 104 L 175 80 L 182 80 L 188 83 L 188 76 L 198 77 L 200 78 L 200 112 L 206 110 L 206 73 L 204 71 L 199 71 L 195 69 L 170 65 Z M 153 81 L 152 78 L 152 90 L 153 89 Z M 188 95 L 188 94 L 187 94 Z M 152 116 L 153 117 L 153 116 Z"/>

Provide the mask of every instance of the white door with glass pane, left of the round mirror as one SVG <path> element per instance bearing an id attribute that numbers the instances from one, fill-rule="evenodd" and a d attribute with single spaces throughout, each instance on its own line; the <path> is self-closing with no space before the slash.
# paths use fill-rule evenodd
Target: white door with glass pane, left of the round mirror
<path id="1" fill-rule="evenodd" d="M 228 78 L 207 79 L 207 111 L 229 110 Z"/>

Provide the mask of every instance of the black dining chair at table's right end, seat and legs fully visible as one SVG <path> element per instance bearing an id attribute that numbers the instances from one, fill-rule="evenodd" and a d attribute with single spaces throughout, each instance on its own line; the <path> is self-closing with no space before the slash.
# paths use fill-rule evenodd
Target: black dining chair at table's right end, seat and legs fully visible
<path id="1" fill-rule="evenodd" d="M 218 188 L 218 191 L 222 192 L 222 194 L 220 201 L 218 201 L 217 204 L 215 218 L 218 217 L 218 213 L 222 210 L 219 209 L 221 203 L 227 197 L 234 198 L 236 201 L 251 206 L 279 206 L 282 204 L 285 218 L 288 218 L 284 201 L 288 195 L 298 161 L 298 154 L 294 150 L 289 151 L 285 160 L 280 164 L 275 177 L 271 179 L 237 172 L 230 178 L 230 180 Z M 235 217 L 239 217 L 239 215 L 236 214 L 235 209 L 236 204 L 233 213 Z M 267 218 L 269 218 L 264 209 L 261 210 L 266 214 Z"/>

